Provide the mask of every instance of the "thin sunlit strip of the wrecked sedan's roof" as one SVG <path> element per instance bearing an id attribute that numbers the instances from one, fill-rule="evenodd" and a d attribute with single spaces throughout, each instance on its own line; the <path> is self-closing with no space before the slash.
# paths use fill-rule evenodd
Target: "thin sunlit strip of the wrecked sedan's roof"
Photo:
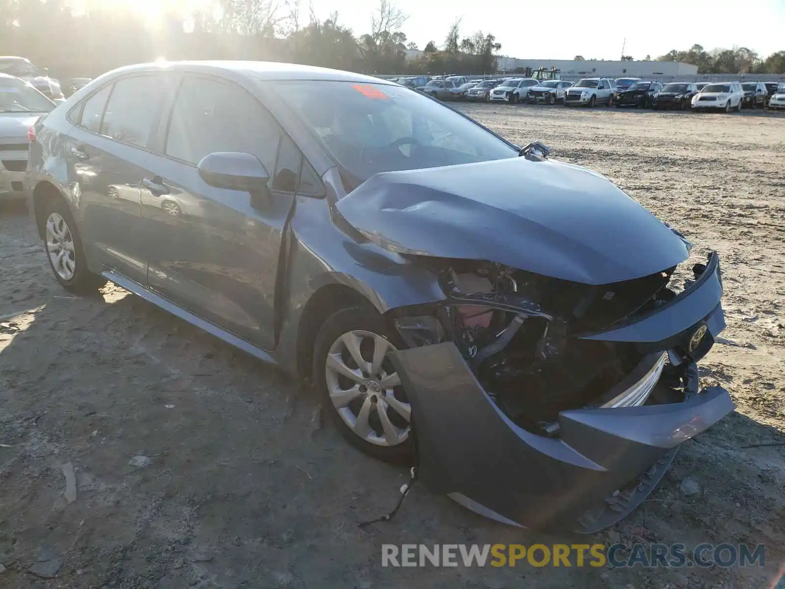
<path id="1" fill-rule="evenodd" d="M 323 80 L 339 82 L 364 82 L 374 84 L 394 84 L 370 75 L 355 74 L 351 71 L 316 68 L 311 65 L 282 64 L 274 61 L 167 61 L 151 64 L 128 65 L 116 69 L 115 75 L 144 71 L 192 71 L 210 73 L 232 71 L 250 75 L 261 80 Z"/>

